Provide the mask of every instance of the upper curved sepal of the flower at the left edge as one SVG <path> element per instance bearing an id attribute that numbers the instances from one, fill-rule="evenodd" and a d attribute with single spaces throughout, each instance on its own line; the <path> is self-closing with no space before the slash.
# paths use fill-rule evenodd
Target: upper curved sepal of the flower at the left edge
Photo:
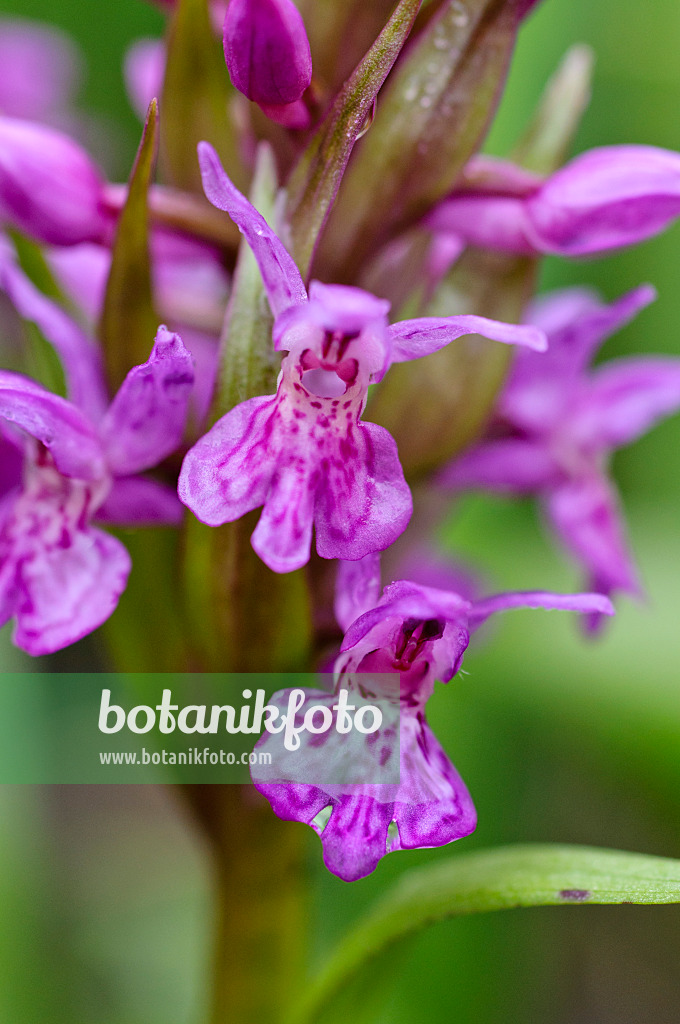
<path id="1" fill-rule="evenodd" d="M 107 407 L 101 355 L 80 327 L 42 295 L 12 261 L 0 259 L 0 289 L 16 311 L 33 321 L 63 364 L 72 401 L 94 420 Z"/>

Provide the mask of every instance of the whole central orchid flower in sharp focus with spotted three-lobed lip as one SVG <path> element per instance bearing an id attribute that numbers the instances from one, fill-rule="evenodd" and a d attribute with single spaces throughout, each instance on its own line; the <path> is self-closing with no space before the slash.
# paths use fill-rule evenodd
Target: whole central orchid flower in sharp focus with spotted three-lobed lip
<path id="1" fill-rule="evenodd" d="M 312 282 L 309 295 L 290 253 L 231 184 L 214 150 L 199 147 L 208 199 L 225 210 L 259 264 L 275 316 L 274 346 L 288 352 L 275 395 L 237 406 L 188 452 L 179 497 L 209 525 L 264 506 L 252 543 L 275 572 L 309 558 L 357 559 L 387 548 L 411 516 L 411 493 L 387 431 L 360 422 L 369 384 L 391 362 L 426 355 L 463 334 L 536 349 L 536 328 L 481 316 L 403 321 L 357 288 Z"/>

